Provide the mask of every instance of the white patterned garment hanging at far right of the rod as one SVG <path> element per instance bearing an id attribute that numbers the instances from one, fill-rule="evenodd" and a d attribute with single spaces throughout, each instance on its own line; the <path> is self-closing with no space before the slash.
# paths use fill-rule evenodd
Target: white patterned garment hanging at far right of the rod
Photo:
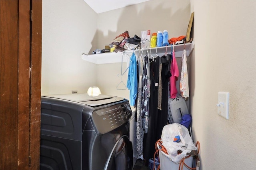
<path id="1" fill-rule="evenodd" d="M 182 53 L 182 68 L 180 73 L 180 92 L 183 98 L 189 97 L 189 88 L 188 88 L 188 68 L 187 68 L 187 56 L 186 50 L 183 50 Z"/>

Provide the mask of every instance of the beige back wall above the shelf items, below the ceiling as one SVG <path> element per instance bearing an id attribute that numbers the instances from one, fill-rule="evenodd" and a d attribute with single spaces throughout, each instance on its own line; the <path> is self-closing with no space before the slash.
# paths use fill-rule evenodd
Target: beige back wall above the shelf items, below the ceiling
<path id="1" fill-rule="evenodd" d="M 140 4 L 98 14 L 98 47 L 129 31 L 130 37 L 140 31 L 167 29 L 169 37 L 185 35 L 190 18 L 190 1 L 150 0 Z"/>

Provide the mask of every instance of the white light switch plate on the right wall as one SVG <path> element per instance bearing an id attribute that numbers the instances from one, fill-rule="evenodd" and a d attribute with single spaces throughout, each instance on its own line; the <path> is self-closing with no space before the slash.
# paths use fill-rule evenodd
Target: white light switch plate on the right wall
<path id="1" fill-rule="evenodd" d="M 218 115 L 228 119 L 229 92 L 218 92 Z"/>

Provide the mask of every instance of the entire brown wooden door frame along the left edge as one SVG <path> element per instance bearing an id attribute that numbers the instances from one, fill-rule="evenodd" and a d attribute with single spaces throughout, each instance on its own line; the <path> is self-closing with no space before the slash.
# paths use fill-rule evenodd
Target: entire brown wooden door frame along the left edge
<path id="1" fill-rule="evenodd" d="M 42 0 L 0 0 L 0 169 L 39 170 Z"/>

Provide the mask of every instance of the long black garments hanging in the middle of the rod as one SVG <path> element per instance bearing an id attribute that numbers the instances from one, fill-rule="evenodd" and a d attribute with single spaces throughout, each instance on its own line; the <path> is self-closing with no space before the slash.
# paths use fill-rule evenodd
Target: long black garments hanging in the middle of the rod
<path id="1" fill-rule="evenodd" d="M 162 63 L 162 72 L 159 73 L 159 66 Z M 152 63 L 150 63 L 150 98 L 149 98 L 149 123 L 148 134 L 144 134 L 144 158 L 149 160 L 154 156 L 155 143 L 161 138 L 162 129 L 167 125 L 168 117 L 168 65 L 170 61 L 167 61 L 164 56 L 156 57 Z M 162 76 L 162 110 L 157 109 L 158 106 L 158 81 L 159 75 Z"/>

